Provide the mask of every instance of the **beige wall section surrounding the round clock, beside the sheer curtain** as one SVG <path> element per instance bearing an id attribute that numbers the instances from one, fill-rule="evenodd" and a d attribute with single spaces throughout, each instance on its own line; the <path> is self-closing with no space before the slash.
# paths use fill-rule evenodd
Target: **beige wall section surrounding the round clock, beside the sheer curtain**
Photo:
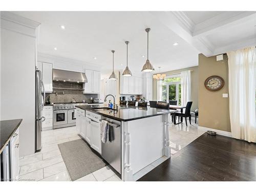
<path id="1" fill-rule="evenodd" d="M 216 61 L 216 56 L 205 57 L 199 54 L 199 126 L 230 132 L 229 99 L 223 98 L 228 93 L 227 55 L 224 61 Z M 221 76 L 224 87 L 219 91 L 208 91 L 204 81 L 211 75 Z"/>

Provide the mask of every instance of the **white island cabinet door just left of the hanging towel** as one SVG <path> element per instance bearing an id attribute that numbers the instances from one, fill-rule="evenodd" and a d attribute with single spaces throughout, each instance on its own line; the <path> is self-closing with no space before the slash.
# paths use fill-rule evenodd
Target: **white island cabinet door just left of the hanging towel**
<path id="1" fill-rule="evenodd" d="M 101 154 L 100 123 L 91 121 L 91 147 Z"/>

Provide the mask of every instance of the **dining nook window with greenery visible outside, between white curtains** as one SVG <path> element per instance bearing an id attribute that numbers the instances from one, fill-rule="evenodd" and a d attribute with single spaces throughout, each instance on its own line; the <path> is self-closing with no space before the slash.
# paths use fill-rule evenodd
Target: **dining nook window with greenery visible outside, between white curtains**
<path id="1" fill-rule="evenodd" d="M 177 100 L 181 105 L 181 77 L 167 76 L 162 85 L 162 101 Z"/>

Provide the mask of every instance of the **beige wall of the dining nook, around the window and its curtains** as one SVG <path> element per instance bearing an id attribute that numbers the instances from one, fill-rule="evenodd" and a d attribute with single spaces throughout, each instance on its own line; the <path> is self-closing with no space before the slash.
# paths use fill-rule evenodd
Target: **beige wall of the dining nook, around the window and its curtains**
<path id="1" fill-rule="evenodd" d="M 180 73 L 182 71 L 193 70 L 191 72 L 191 101 L 193 101 L 191 111 L 198 108 L 198 66 L 164 72 L 166 75 Z M 153 80 L 153 100 L 157 100 L 157 81 Z"/>

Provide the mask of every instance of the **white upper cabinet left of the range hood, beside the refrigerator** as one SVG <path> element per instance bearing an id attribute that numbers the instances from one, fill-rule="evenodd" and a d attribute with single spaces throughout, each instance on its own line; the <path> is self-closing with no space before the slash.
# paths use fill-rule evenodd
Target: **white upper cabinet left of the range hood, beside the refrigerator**
<path id="1" fill-rule="evenodd" d="M 52 63 L 37 62 L 37 69 L 41 71 L 42 82 L 45 86 L 45 92 L 52 92 Z"/>

